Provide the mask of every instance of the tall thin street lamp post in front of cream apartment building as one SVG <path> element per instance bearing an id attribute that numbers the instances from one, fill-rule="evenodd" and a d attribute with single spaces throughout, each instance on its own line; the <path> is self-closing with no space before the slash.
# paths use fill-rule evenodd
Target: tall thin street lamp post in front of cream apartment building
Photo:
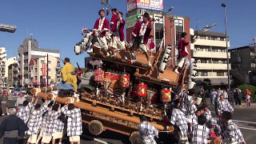
<path id="1" fill-rule="evenodd" d="M 222 7 L 224 7 L 224 14 L 225 14 L 225 29 L 226 29 L 226 58 L 227 58 L 227 82 L 229 86 L 229 101 L 231 99 L 231 88 L 230 88 L 230 58 L 229 58 L 229 50 L 228 50 L 228 43 L 227 43 L 227 26 L 226 26 L 226 3 L 222 3 Z"/>

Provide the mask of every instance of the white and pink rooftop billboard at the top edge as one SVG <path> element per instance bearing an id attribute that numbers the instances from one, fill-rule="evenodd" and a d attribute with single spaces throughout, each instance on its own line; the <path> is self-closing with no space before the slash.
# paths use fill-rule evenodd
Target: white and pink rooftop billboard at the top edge
<path id="1" fill-rule="evenodd" d="M 127 0 L 127 11 L 134 9 L 162 10 L 163 0 Z"/>

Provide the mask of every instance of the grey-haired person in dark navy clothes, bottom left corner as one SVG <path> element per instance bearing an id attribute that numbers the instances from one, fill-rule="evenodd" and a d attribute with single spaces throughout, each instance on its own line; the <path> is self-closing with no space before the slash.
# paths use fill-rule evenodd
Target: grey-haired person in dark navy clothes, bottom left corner
<path id="1" fill-rule="evenodd" d="M 7 118 L 5 118 L 0 126 L 0 138 L 3 136 L 3 144 L 17 144 L 18 137 L 24 137 L 25 131 L 28 130 L 26 124 L 21 118 L 16 116 L 16 109 L 10 108 Z"/>

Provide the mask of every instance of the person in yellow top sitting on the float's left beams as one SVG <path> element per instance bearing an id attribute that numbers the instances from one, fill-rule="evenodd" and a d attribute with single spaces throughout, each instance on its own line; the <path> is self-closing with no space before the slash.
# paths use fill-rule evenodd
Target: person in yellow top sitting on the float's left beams
<path id="1" fill-rule="evenodd" d="M 57 89 L 62 90 L 73 90 L 77 91 L 77 77 L 75 75 L 74 66 L 70 63 L 70 58 L 65 58 L 64 66 L 62 68 L 62 82 L 57 86 Z"/>

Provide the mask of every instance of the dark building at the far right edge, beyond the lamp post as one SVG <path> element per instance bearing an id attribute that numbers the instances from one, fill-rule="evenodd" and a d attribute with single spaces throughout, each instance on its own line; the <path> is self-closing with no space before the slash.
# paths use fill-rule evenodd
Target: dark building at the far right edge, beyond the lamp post
<path id="1" fill-rule="evenodd" d="M 230 74 L 235 85 L 251 84 L 256 86 L 256 47 L 242 46 L 230 49 Z"/>

